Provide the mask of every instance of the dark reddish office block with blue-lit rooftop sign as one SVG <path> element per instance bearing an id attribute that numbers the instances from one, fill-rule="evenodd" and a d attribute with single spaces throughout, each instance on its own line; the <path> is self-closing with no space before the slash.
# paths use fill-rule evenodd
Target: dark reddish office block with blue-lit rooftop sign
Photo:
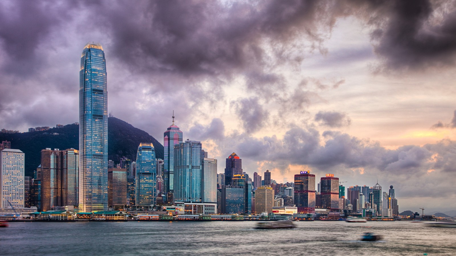
<path id="1" fill-rule="evenodd" d="M 298 213 L 315 212 L 315 174 L 311 174 L 310 171 L 295 174 L 294 198 Z"/>

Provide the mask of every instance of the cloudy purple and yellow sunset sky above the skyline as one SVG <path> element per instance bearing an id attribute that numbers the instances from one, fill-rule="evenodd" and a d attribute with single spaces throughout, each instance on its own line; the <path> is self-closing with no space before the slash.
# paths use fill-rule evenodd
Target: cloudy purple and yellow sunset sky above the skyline
<path id="1" fill-rule="evenodd" d="M 456 210 L 456 2 L 0 1 L 0 128 L 78 122 L 83 47 L 108 110 L 277 182 L 311 170 Z"/>

